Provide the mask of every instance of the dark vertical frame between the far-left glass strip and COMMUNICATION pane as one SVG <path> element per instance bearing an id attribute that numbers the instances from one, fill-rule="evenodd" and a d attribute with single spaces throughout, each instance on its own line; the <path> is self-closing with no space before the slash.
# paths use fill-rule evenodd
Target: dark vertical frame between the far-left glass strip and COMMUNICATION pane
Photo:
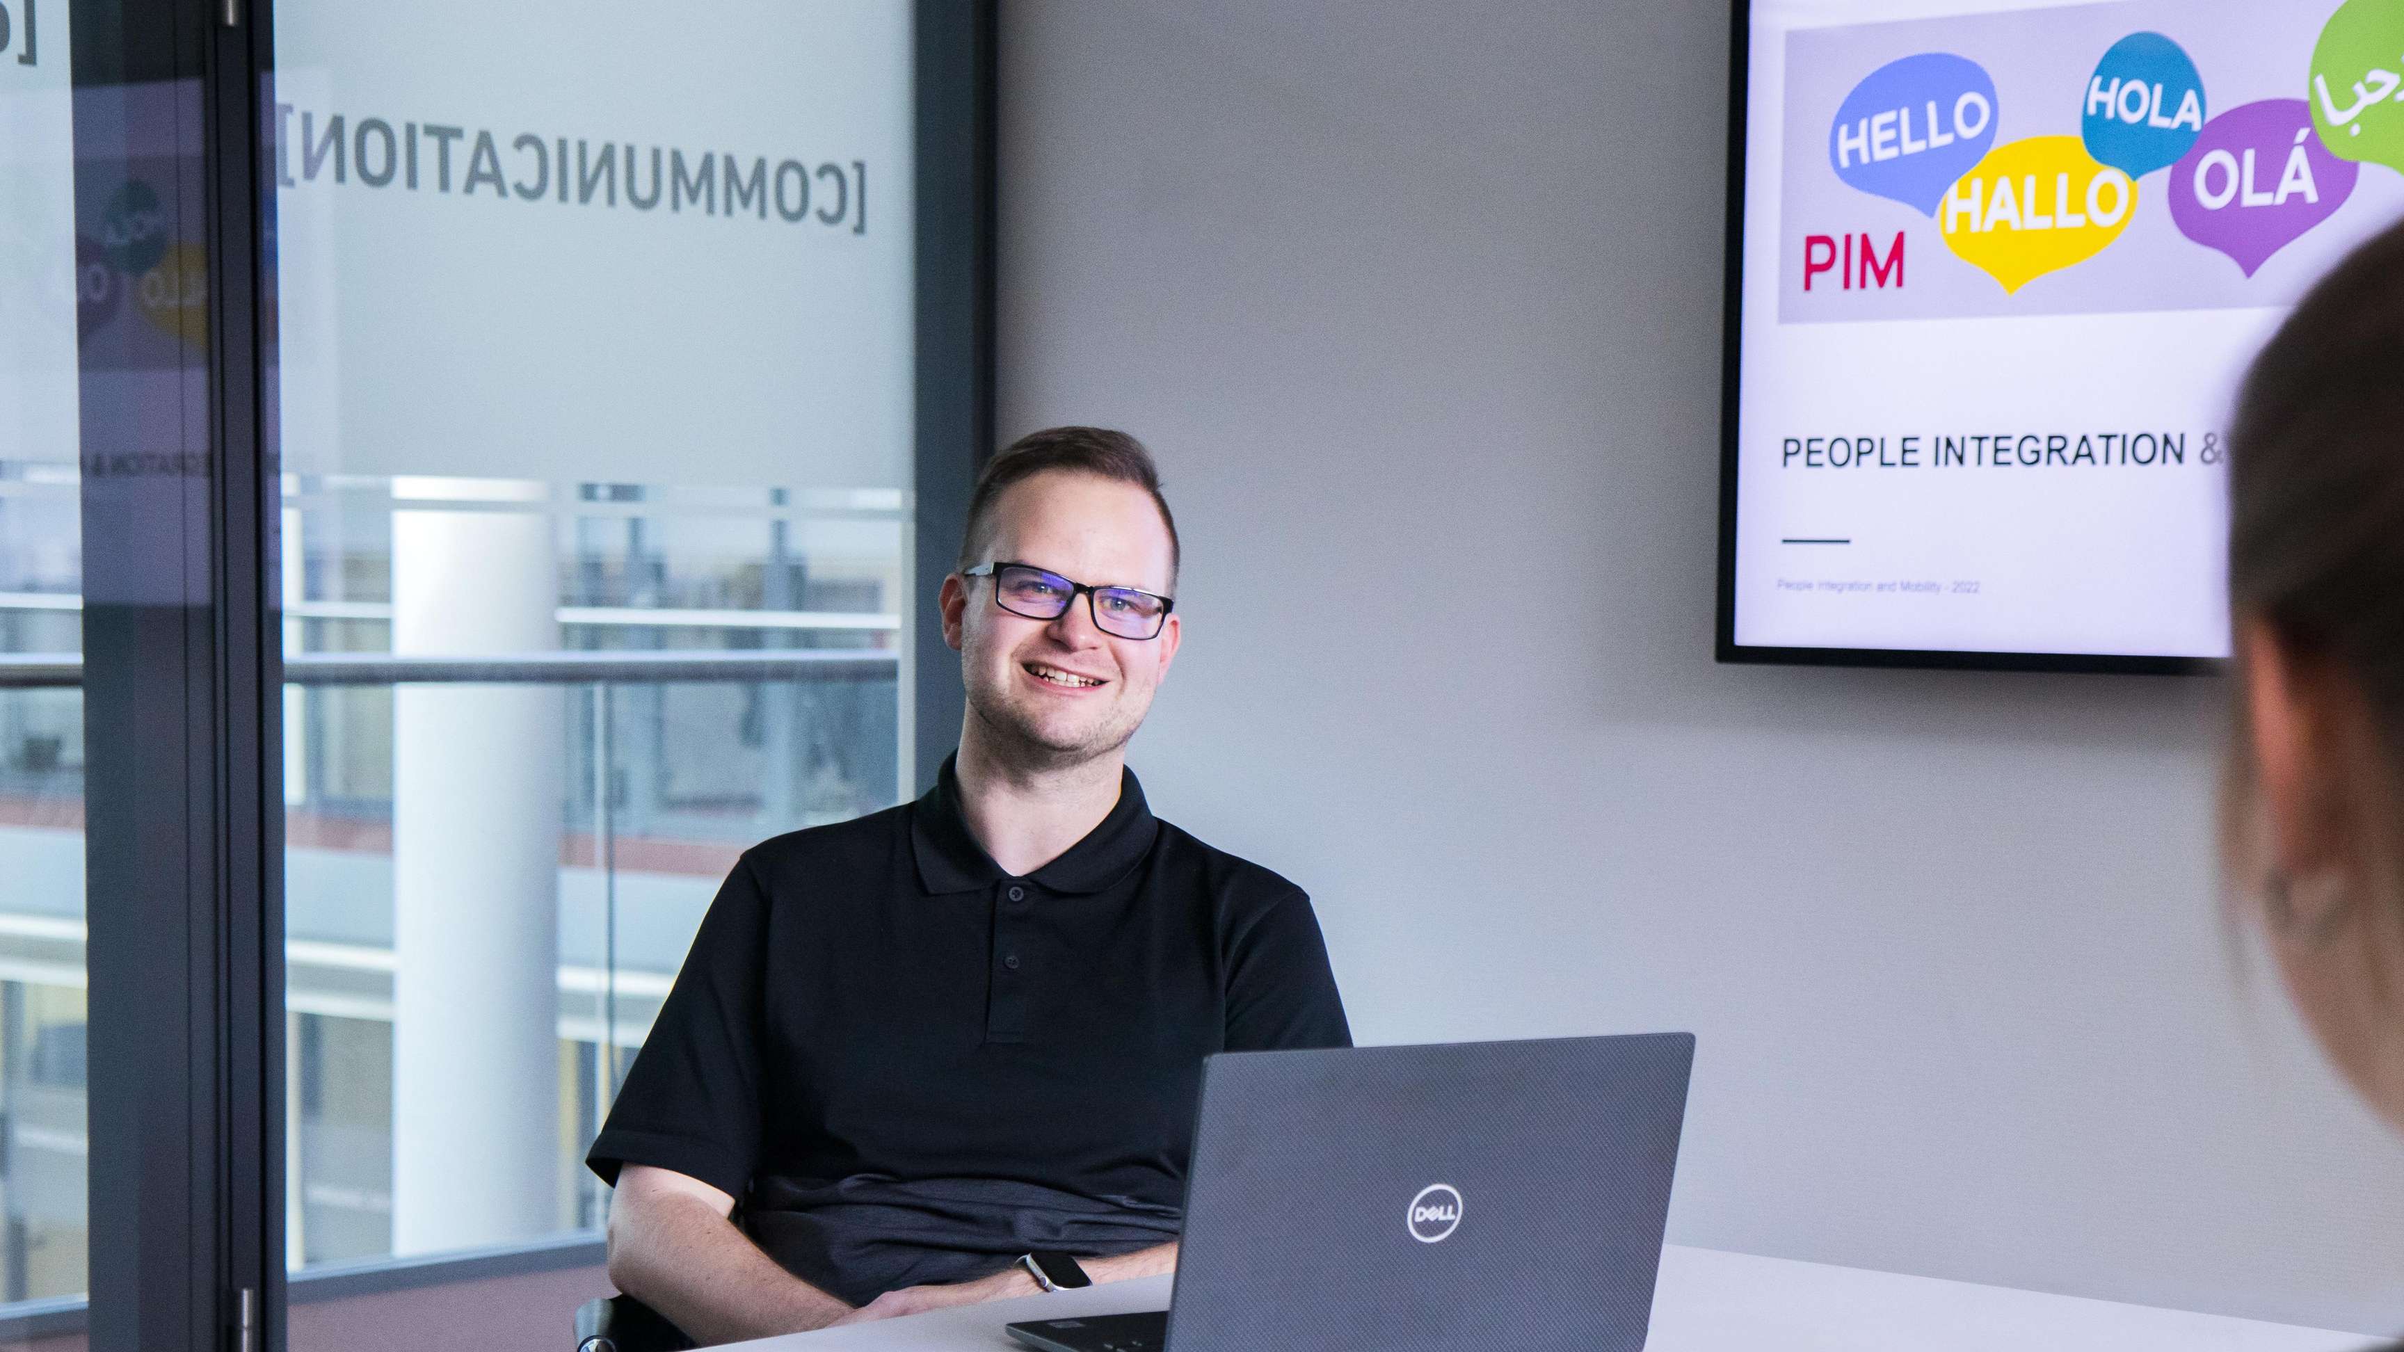
<path id="1" fill-rule="evenodd" d="M 209 298 L 204 358 L 142 390 L 111 385 L 91 354 L 82 368 L 89 1340 L 216 1347 L 248 1311 L 257 1345 L 281 1347 L 264 43 L 238 0 L 94 0 L 75 38 L 79 214 L 91 176 L 135 164 L 99 140 L 106 89 L 161 87 L 178 118 L 166 209 L 202 245 Z"/>

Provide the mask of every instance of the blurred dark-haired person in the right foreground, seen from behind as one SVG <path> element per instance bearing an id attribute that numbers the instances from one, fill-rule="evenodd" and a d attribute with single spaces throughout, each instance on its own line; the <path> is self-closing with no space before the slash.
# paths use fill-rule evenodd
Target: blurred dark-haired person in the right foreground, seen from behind
<path id="1" fill-rule="evenodd" d="M 2229 508 L 2229 876 L 2329 1061 L 2404 1131 L 2404 224 L 2255 358 Z"/>

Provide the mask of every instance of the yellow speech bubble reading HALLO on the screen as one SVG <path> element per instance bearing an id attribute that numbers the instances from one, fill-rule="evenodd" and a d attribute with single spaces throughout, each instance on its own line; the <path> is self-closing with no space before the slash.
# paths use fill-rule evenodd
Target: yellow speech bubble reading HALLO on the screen
<path id="1" fill-rule="evenodd" d="M 2137 180 L 2079 137 L 2000 144 L 1938 204 L 1938 231 L 2005 293 L 2104 253 L 2137 214 Z"/>

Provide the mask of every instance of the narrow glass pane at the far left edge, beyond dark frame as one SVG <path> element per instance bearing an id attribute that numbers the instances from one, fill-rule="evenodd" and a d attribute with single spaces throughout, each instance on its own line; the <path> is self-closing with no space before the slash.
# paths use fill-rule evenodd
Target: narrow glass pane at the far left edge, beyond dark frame
<path id="1" fill-rule="evenodd" d="M 77 233 L 67 36 L 0 0 L 0 1318 L 87 1289 L 77 354 L 161 262 Z"/>

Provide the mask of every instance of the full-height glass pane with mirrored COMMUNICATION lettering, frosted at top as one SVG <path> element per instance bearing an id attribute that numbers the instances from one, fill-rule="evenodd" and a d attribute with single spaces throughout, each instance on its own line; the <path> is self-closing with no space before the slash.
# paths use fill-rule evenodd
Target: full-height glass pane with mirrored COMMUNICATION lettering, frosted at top
<path id="1" fill-rule="evenodd" d="M 582 1155 L 726 868 L 914 777 L 911 38 L 276 2 L 296 1350 L 606 1289 Z"/>

